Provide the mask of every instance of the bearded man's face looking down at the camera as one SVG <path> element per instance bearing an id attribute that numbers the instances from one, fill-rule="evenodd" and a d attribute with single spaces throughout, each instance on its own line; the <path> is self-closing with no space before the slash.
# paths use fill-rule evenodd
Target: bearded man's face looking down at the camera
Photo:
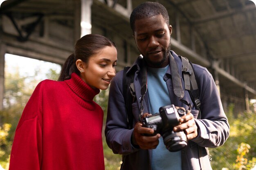
<path id="1" fill-rule="evenodd" d="M 166 24 L 161 14 L 135 20 L 134 39 L 147 66 L 161 68 L 168 65 L 171 31 L 171 25 Z"/>

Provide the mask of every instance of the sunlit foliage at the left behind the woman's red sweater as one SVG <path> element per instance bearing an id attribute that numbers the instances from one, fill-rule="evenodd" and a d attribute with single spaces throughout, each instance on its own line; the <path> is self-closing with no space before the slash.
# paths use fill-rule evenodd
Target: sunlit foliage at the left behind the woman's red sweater
<path id="1" fill-rule="evenodd" d="M 9 169 L 11 145 L 22 111 L 36 85 L 42 81 L 35 78 L 39 73 L 40 68 L 32 76 L 20 75 L 18 66 L 13 73 L 5 71 L 4 109 L 0 110 L 0 165 L 4 169 Z M 58 73 L 50 69 L 47 78 L 56 77 Z"/>

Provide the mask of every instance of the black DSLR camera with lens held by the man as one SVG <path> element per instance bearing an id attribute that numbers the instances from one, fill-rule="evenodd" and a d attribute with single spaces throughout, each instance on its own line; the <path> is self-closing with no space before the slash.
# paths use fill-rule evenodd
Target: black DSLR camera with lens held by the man
<path id="1" fill-rule="evenodd" d="M 187 146 L 186 135 L 183 131 L 174 132 L 173 127 L 180 124 L 180 117 L 183 115 L 186 115 L 185 111 L 183 109 L 176 109 L 173 104 L 160 107 L 159 113 L 142 119 L 143 127 L 154 130 L 152 135 L 144 135 L 154 136 L 159 133 L 164 139 L 164 145 L 170 152 L 181 150 Z"/>

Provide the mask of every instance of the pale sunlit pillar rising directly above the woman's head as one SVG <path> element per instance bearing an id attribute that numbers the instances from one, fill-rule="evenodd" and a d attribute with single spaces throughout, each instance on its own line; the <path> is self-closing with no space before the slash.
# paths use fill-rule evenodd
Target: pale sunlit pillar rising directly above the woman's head
<path id="1" fill-rule="evenodd" d="M 92 0 L 81 0 L 81 37 L 92 33 Z"/>

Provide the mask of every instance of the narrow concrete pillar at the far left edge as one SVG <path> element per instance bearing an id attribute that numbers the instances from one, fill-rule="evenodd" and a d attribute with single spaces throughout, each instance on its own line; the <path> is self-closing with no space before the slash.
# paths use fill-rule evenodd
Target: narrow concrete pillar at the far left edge
<path id="1" fill-rule="evenodd" d="M 4 55 L 6 53 L 5 49 L 6 49 L 5 44 L 1 44 L 1 41 L 0 41 L 0 110 L 4 108 L 3 99 L 4 99 Z"/>

